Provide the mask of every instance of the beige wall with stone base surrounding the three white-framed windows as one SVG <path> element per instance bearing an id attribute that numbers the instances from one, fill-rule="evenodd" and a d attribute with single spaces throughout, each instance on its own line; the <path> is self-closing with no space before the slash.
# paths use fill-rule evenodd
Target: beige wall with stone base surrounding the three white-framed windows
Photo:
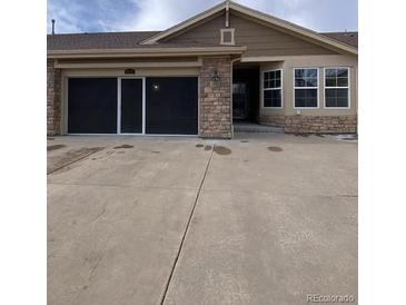
<path id="1" fill-rule="evenodd" d="M 285 127 L 287 132 L 356 132 L 357 131 L 357 76 L 356 56 L 300 56 L 284 57 L 276 62 L 261 63 L 263 71 L 283 69 L 283 108 L 264 108 L 260 100 L 260 122 Z M 348 67 L 350 69 L 350 107 L 348 109 L 325 108 L 324 68 Z M 318 109 L 294 108 L 294 68 L 319 68 L 319 107 Z M 261 89 L 263 89 L 261 81 Z"/>

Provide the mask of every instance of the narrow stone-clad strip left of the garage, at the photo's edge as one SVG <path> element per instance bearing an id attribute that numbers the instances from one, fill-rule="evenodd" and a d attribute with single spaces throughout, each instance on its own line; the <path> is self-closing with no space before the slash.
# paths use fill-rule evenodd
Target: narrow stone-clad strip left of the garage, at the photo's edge
<path id="1" fill-rule="evenodd" d="M 60 135 L 62 97 L 61 70 L 53 67 L 53 60 L 47 60 L 47 135 Z"/>

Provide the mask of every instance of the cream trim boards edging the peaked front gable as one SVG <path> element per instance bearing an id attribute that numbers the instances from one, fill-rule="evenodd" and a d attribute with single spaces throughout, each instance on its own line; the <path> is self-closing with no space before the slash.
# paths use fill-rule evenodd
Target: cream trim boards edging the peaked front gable
<path id="1" fill-rule="evenodd" d="M 237 12 L 240 12 L 242 14 L 246 14 L 246 16 L 257 19 L 259 21 L 263 21 L 263 22 L 265 21 L 266 23 L 268 23 L 271 27 L 277 27 L 284 31 L 288 31 L 296 36 L 300 36 L 315 43 L 318 43 L 321 46 L 328 46 L 330 48 L 336 48 L 336 49 L 339 49 L 339 50 L 343 50 L 343 51 L 346 51 L 349 53 L 354 53 L 354 55 L 358 53 L 356 48 L 354 48 L 351 45 L 340 41 L 339 39 L 331 38 L 329 36 L 325 36 L 325 35 L 320 35 L 318 32 L 315 32 L 313 30 L 309 30 L 304 27 L 297 26 L 295 23 L 288 22 L 286 20 L 276 18 L 274 16 L 266 14 L 264 12 L 237 4 L 232 1 L 221 2 L 220 4 L 217 4 L 216 7 L 209 9 L 207 11 L 204 11 L 192 18 L 189 18 L 179 24 L 176 24 L 162 32 L 156 33 L 150 38 L 145 39 L 140 43 L 141 45 L 158 43 L 164 38 L 167 38 L 177 32 L 184 31 L 185 29 L 192 27 L 196 23 L 202 22 L 204 20 L 209 19 L 212 16 L 217 16 L 219 12 L 221 12 L 224 10 L 228 10 L 228 9 L 235 10 Z"/>

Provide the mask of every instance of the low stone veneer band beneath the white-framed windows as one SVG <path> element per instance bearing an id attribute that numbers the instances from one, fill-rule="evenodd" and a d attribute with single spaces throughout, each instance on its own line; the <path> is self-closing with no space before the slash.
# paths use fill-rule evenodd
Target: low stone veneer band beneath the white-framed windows
<path id="1" fill-rule="evenodd" d="M 266 116 L 260 124 L 284 127 L 286 134 L 356 134 L 357 116 Z"/>

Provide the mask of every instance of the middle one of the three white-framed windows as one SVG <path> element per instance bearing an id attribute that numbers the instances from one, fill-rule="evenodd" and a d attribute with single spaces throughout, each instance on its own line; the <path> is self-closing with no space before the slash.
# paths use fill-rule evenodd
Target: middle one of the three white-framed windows
<path id="1" fill-rule="evenodd" d="M 295 108 L 318 108 L 318 68 L 295 68 Z"/>

